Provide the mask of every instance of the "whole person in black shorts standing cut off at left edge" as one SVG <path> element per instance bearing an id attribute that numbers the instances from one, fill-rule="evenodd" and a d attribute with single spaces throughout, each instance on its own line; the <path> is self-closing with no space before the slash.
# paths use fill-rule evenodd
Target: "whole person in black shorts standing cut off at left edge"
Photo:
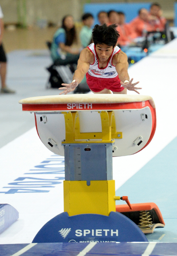
<path id="1" fill-rule="evenodd" d="M 7 73 L 7 58 L 3 48 L 2 39 L 4 34 L 3 13 L 0 7 L 0 77 L 1 77 L 1 90 L 0 93 L 15 93 L 6 86 L 6 73 Z"/>

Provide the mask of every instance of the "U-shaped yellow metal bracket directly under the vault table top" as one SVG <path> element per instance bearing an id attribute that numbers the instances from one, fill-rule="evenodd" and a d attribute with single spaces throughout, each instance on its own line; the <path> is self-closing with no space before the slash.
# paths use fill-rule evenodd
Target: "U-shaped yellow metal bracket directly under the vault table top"
<path id="1" fill-rule="evenodd" d="M 109 143 L 113 139 L 122 139 L 122 132 L 116 132 L 115 116 L 113 111 L 101 111 L 102 132 L 81 133 L 78 112 L 62 112 L 65 117 L 66 139 L 62 143 Z M 112 139 L 112 140 L 111 140 Z"/>

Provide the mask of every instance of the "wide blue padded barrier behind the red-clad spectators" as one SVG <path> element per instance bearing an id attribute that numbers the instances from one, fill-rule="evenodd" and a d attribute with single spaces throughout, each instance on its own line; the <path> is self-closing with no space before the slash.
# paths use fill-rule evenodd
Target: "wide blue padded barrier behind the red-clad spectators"
<path id="1" fill-rule="evenodd" d="M 149 10 L 151 3 L 100 3 L 100 4 L 85 4 L 84 12 L 89 12 L 94 16 L 95 24 L 99 24 L 97 19 L 97 14 L 100 11 L 123 11 L 126 15 L 126 22 L 130 22 L 138 15 L 138 11 L 141 8 L 146 8 Z"/>

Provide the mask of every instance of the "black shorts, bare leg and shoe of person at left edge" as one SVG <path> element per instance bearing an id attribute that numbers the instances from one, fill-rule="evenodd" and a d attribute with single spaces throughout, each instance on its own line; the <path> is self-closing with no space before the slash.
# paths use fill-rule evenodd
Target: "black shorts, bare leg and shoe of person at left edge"
<path id="1" fill-rule="evenodd" d="M 7 58 L 3 45 L 0 45 L 0 78 L 1 78 L 1 90 L 0 93 L 15 93 L 15 91 L 9 89 L 6 85 L 7 74 Z"/>

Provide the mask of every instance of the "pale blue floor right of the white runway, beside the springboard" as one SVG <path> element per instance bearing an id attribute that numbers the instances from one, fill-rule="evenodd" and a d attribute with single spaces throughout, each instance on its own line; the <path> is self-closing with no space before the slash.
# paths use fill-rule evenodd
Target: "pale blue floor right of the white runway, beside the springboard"
<path id="1" fill-rule="evenodd" d="M 177 138 L 126 181 L 116 196 L 128 196 L 130 203 L 156 203 L 166 225 L 147 239 L 158 240 L 165 234 L 161 242 L 177 242 Z"/>

